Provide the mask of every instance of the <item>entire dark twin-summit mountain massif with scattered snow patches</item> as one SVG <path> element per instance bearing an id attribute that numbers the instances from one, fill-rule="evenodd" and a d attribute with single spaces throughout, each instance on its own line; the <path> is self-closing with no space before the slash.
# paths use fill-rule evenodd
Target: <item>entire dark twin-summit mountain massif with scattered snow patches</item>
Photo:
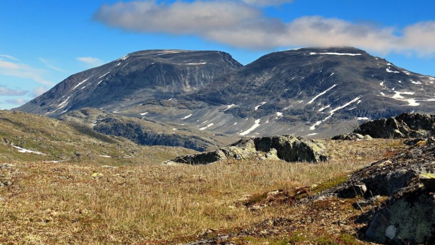
<path id="1" fill-rule="evenodd" d="M 73 75 L 17 109 L 59 116 L 92 106 L 215 134 L 330 137 L 372 118 L 434 112 L 434 82 L 350 47 L 273 52 L 243 67 L 223 52 L 150 50 Z"/>

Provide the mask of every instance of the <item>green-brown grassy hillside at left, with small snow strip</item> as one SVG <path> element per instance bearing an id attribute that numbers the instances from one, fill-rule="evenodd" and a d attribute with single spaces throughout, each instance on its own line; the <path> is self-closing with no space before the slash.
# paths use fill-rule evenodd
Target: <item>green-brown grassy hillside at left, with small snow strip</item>
<path id="1" fill-rule="evenodd" d="M 12 145 L 42 154 L 20 152 Z M 122 165 L 160 162 L 190 152 L 193 150 L 182 147 L 141 147 L 79 124 L 25 112 L 0 111 L 0 162 L 86 161 Z"/>

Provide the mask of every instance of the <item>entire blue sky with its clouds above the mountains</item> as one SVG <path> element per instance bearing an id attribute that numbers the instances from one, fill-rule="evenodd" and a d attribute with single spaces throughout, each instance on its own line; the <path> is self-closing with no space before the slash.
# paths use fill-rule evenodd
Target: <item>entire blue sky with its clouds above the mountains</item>
<path id="1" fill-rule="evenodd" d="M 248 64 L 348 45 L 434 76 L 434 9 L 431 0 L 1 0 L 0 109 L 142 49 L 222 50 Z"/>

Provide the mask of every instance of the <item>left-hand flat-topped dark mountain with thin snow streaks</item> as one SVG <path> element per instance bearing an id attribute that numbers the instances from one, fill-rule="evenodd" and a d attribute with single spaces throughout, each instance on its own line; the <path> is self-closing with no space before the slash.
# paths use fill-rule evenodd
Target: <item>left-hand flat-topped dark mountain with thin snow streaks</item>
<path id="1" fill-rule="evenodd" d="M 56 117 L 86 106 L 121 108 L 152 98 L 170 99 L 202 89 L 240 67 L 220 51 L 138 51 L 74 74 L 17 110 Z"/>

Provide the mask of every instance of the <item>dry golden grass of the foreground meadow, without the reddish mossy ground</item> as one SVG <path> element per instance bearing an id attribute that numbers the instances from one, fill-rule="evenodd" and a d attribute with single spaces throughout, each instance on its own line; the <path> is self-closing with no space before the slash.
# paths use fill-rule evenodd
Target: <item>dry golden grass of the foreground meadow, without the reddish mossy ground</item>
<path id="1" fill-rule="evenodd" d="M 11 162 L 0 170 L 0 244 L 168 244 L 233 230 L 297 208 L 253 212 L 235 202 L 343 177 L 402 148 L 399 141 L 328 142 L 325 163 L 228 161 L 205 166 Z M 101 173 L 102 177 L 92 177 Z"/>

